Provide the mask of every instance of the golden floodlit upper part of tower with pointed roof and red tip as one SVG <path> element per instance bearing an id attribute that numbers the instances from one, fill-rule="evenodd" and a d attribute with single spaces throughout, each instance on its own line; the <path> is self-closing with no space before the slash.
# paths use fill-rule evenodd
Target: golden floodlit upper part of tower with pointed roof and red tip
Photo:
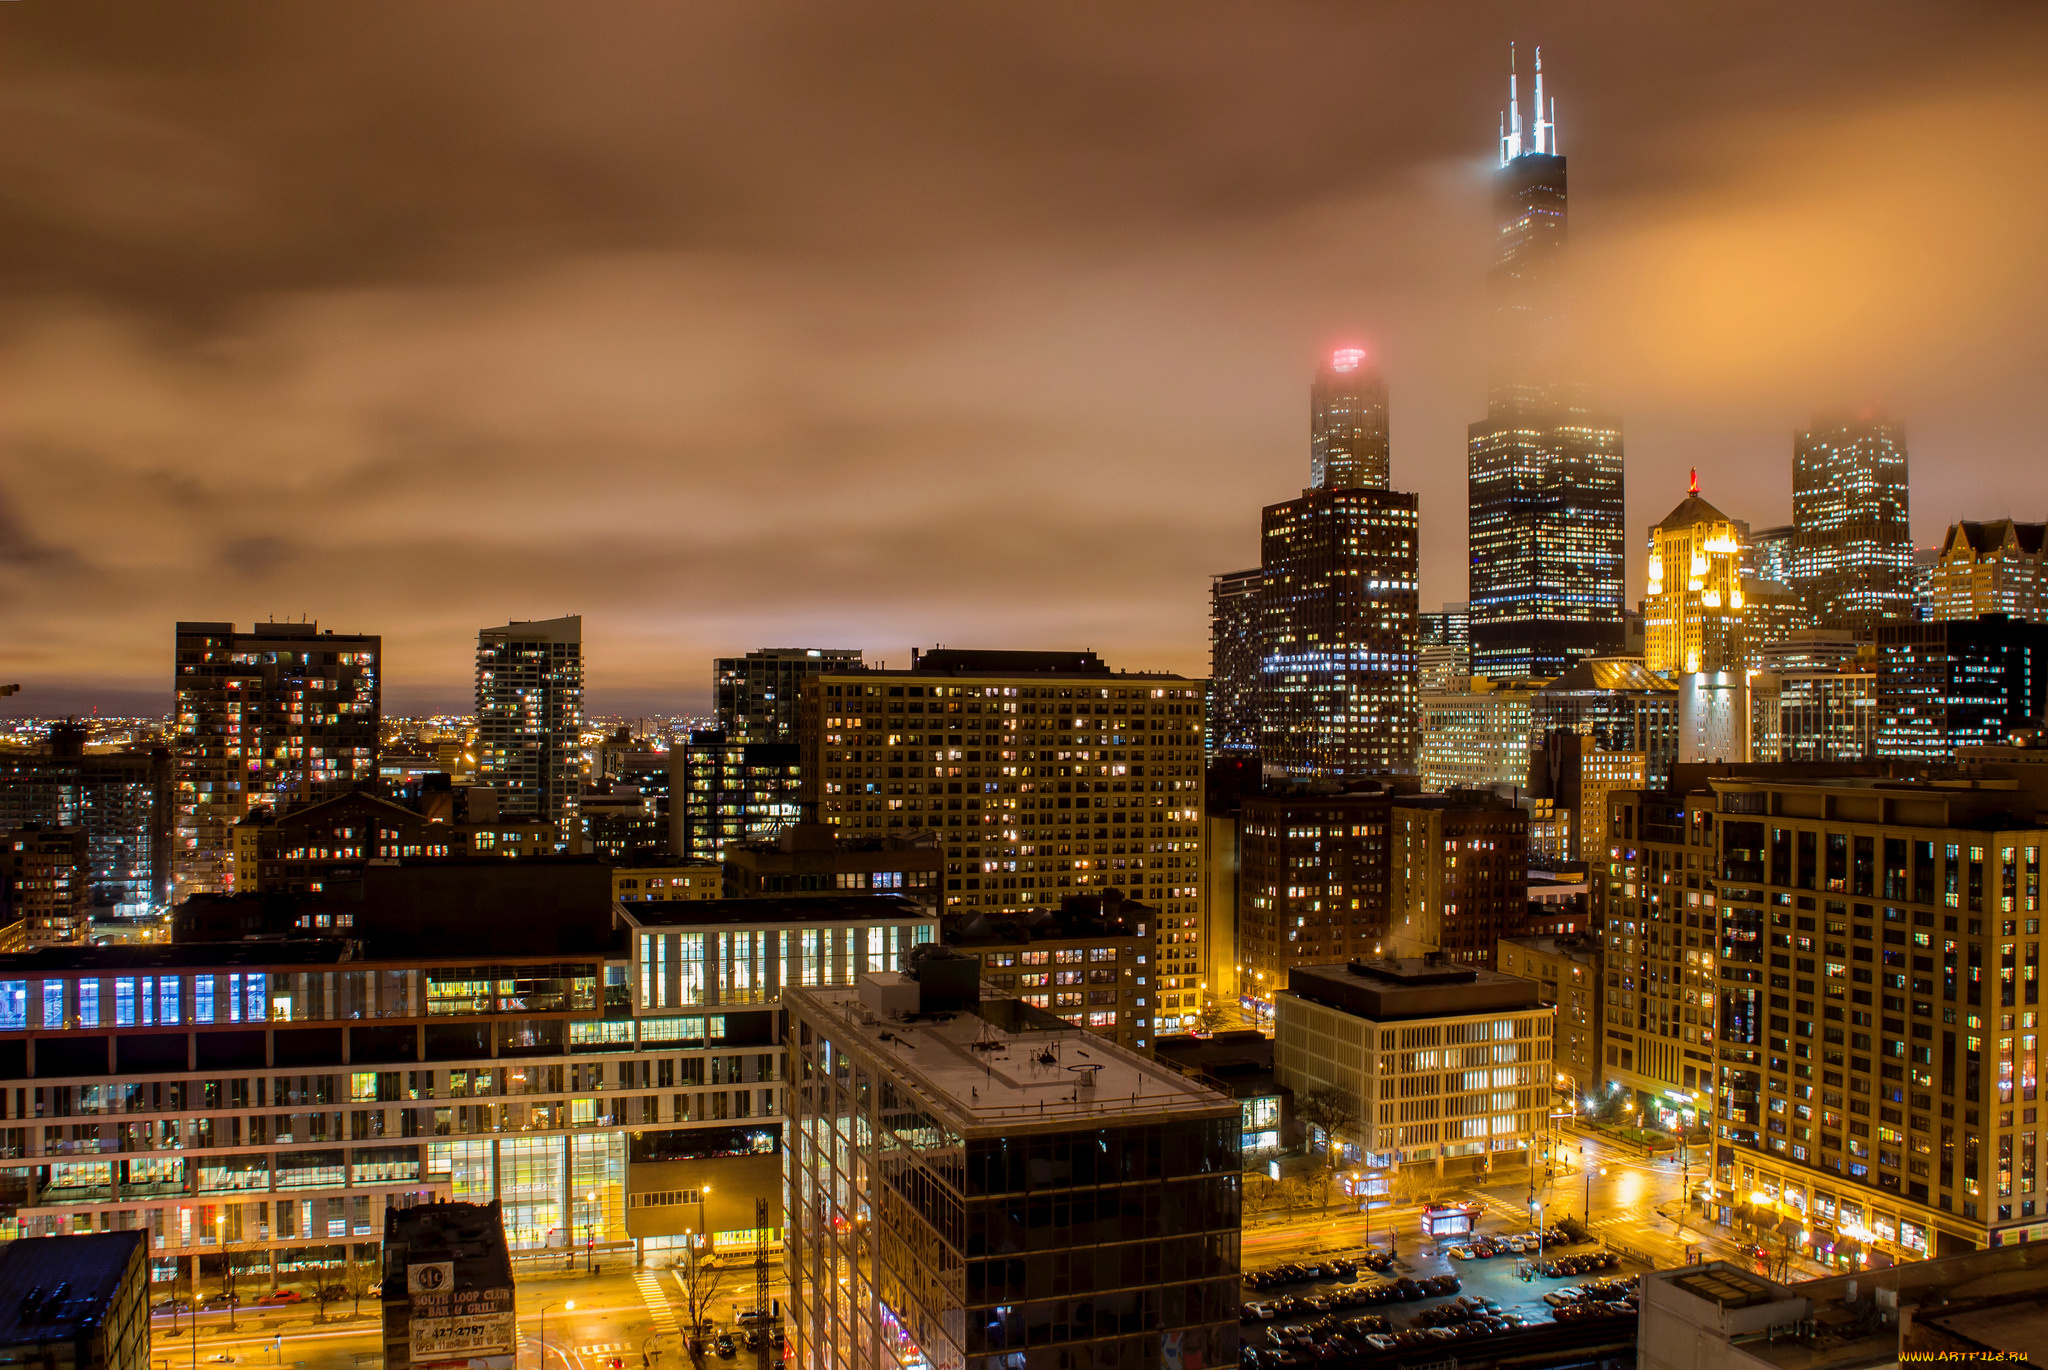
<path id="1" fill-rule="evenodd" d="M 1679 506 L 1651 528 L 1642 616 L 1642 663 L 1659 676 L 1747 666 L 1741 530 L 1700 498 L 1698 471 Z"/>

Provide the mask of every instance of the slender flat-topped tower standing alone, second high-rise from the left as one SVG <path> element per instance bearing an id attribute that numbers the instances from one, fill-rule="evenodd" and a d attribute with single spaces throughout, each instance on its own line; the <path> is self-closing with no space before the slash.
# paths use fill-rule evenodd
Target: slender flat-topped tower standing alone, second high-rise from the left
<path id="1" fill-rule="evenodd" d="M 477 633 L 477 784 L 504 819 L 578 829 L 584 745 L 584 620 L 539 618 Z"/>

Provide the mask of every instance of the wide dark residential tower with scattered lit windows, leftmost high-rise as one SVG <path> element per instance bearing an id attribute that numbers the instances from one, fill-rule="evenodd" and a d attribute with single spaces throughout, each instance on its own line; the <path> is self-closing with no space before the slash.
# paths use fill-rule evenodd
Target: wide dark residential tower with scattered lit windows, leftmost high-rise
<path id="1" fill-rule="evenodd" d="M 377 778 L 383 639 L 315 623 L 180 623 L 176 657 L 172 901 L 233 889 L 229 833 L 250 809 Z"/>

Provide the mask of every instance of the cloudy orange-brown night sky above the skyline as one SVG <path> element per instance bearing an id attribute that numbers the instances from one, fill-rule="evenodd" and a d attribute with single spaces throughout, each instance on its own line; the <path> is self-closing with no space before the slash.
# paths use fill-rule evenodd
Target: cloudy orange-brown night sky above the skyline
<path id="1" fill-rule="evenodd" d="M 1511 39 L 1632 541 L 1690 465 L 1790 520 L 1829 408 L 1907 424 L 1919 543 L 2048 518 L 2036 4 L 31 0 L 6 704 L 156 713 L 172 620 L 299 614 L 387 713 L 565 612 L 598 713 L 758 645 L 1206 676 L 1339 342 L 1460 600 Z"/>

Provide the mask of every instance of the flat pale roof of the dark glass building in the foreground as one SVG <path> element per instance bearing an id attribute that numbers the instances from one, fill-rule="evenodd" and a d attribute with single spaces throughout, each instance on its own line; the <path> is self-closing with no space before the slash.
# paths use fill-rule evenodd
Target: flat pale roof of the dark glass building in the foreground
<path id="1" fill-rule="evenodd" d="M 862 1001 L 918 985 L 899 971 L 856 989 L 791 989 L 786 1001 L 901 1077 L 963 1134 L 1114 1126 L 1145 1116 L 1237 1118 L 1239 1106 L 1149 1057 L 981 987 L 952 1014 L 883 1016 Z"/>

